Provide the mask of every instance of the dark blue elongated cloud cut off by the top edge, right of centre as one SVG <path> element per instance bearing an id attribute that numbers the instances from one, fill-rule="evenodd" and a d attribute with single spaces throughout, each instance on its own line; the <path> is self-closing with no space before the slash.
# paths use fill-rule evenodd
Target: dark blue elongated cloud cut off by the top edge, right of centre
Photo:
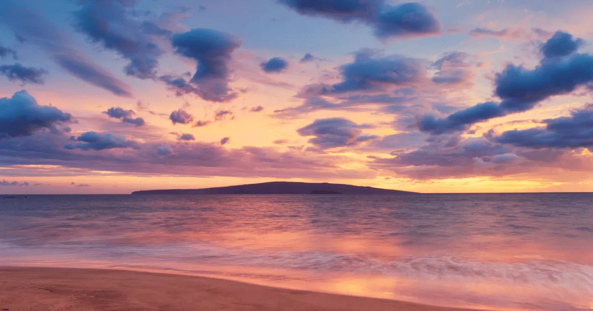
<path id="1" fill-rule="evenodd" d="M 441 25 L 429 9 L 410 2 L 396 6 L 384 0 L 279 0 L 301 15 L 322 16 L 350 23 L 362 21 L 375 28 L 375 36 L 413 37 L 438 34 Z"/>

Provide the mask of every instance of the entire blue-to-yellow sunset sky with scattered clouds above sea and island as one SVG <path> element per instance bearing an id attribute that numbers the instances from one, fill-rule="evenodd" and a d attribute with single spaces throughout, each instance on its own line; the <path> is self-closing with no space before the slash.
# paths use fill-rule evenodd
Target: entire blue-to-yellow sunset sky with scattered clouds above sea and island
<path id="1" fill-rule="evenodd" d="M 593 191 L 593 2 L 2 0 L 0 193 Z"/>

